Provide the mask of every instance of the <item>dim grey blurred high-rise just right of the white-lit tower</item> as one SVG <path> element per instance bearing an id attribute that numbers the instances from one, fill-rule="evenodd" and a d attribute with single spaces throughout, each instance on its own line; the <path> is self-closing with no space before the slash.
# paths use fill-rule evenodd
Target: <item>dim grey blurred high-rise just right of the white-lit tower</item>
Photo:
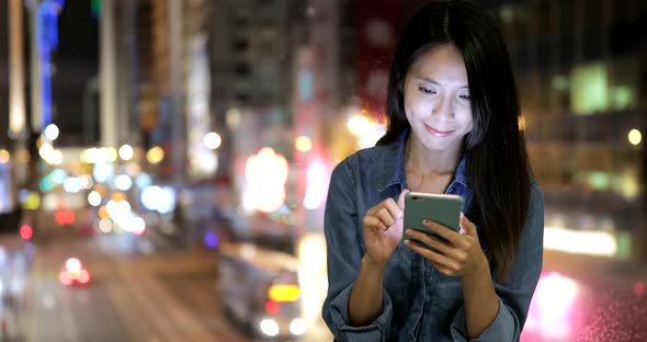
<path id="1" fill-rule="evenodd" d="M 272 146 L 290 159 L 293 25 L 304 1 L 212 1 L 208 21 L 211 103 L 223 137 L 218 182 L 232 185 L 243 158 Z M 238 161 L 237 161 L 238 160 Z M 227 166 L 230 169 L 227 169 Z M 235 169 L 238 166 L 238 169 Z"/>

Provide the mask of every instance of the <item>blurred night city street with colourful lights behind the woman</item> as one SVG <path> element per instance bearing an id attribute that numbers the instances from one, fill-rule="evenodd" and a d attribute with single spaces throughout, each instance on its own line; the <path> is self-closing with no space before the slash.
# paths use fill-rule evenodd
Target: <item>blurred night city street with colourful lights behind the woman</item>
<path id="1" fill-rule="evenodd" d="M 332 341 L 330 175 L 427 2 L 0 0 L 0 342 Z M 521 341 L 645 342 L 647 1 L 477 2 L 544 194 Z"/>

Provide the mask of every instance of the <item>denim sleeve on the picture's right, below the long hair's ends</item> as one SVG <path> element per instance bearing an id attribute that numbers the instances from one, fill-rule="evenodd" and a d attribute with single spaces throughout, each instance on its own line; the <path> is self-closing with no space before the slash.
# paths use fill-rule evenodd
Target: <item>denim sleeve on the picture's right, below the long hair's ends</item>
<path id="1" fill-rule="evenodd" d="M 499 297 L 497 317 L 478 338 L 472 341 L 519 341 L 530 301 L 540 280 L 544 255 L 544 194 L 533 183 L 529 214 L 520 237 L 517 262 L 510 280 L 495 283 Z M 454 341 L 469 341 L 465 322 L 465 307 L 456 312 L 452 323 Z"/>

